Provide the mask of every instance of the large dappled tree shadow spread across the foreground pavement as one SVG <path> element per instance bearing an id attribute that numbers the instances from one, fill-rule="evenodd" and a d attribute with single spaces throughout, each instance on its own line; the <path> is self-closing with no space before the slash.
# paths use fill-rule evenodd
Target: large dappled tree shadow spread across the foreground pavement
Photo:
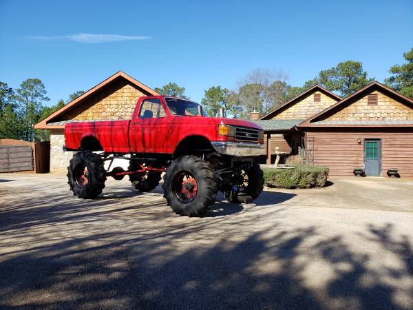
<path id="1" fill-rule="evenodd" d="M 216 220 L 216 219 L 215 219 Z M 369 267 L 368 254 L 315 227 L 216 236 L 217 223 L 139 227 L 39 244 L 0 259 L 2 309 L 399 309 L 412 278 L 412 245 L 391 225 L 367 227 L 366 242 L 394 252 L 399 267 Z M 218 224 L 218 226 L 222 223 Z M 251 223 L 233 223 L 251 225 Z M 195 242 L 196 241 L 196 242 Z M 306 245 L 310 242 L 312 245 Z M 321 266 L 324 265 L 323 269 Z M 312 277 L 322 278 L 310 285 Z M 311 272 L 313 270 L 313 273 Z M 407 292 L 408 294 L 408 292 Z"/>

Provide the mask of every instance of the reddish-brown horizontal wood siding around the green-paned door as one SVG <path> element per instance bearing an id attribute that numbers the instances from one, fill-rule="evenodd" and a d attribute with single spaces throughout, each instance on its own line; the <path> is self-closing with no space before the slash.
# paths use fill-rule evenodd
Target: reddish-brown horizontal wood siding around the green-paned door
<path id="1" fill-rule="evenodd" d="M 366 138 L 381 138 L 381 176 L 395 167 L 402 178 L 413 177 L 413 132 L 307 132 L 306 148 L 313 149 L 315 165 L 330 167 L 330 176 L 352 176 L 354 167 L 363 167 Z"/>

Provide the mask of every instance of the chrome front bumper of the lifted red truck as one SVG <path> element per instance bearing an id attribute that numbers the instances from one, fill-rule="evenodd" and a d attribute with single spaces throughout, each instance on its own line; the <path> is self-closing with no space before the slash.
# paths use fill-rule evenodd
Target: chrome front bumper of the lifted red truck
<path id="1" fill-rule="evenodd" d="M 265 155 L 264 145 L 257 143 L 211 142 L 215 151 L 229 156 L 260 156 Z"/>

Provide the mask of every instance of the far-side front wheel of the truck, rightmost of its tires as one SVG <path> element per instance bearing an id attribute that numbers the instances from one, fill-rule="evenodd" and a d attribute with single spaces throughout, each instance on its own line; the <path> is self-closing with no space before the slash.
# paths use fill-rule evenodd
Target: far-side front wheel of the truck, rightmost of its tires
<path id="1" fill-rule="evenodd" d="M 251 203 L 264 189 L 264 172 L 257 163 L 235 174 L 232 180 L 232 190 L 226 192 L 225 196 L 233 203 Z"/>

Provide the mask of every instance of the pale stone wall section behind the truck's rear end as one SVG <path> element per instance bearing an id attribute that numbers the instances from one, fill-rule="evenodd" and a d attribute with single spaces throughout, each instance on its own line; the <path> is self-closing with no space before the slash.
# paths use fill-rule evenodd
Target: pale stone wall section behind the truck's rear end
<path id="1" fill-rule="evenodd" d="M 63 152 L 63 130 L 53 130 L 50 135 L 50 172 L 67 171 L 69 161 L 76 152 Z"/>

